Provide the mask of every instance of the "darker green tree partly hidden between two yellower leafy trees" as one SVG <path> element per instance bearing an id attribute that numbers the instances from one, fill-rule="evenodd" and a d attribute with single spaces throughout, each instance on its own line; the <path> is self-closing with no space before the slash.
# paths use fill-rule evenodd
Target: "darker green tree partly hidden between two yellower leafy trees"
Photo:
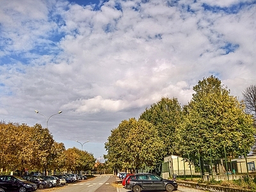
<path id="1" fill-rule="evenodd" d="M 182 109 L 177 98 L 169 99 L 162 97 L 159 102 L 152 104 L 150 108 L 140 115 L 140 119 L 147 120 L 156 126 L 159 138 L 164 143 L 164 156 L 179 154 L 179 145 L 177 142 L 177 130 L 182 118 Z"/>

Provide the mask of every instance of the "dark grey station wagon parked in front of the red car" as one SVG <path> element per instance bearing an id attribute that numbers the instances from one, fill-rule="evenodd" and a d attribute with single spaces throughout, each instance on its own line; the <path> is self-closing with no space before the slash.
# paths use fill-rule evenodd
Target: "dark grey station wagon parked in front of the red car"
<path id="1" fill-rule="evenodd" d="M 137 173 L 135 175 L 131 175 L 130 177 L 131 179 L 127 180 L 124 188 L 132 191 L 174 191 L 178 189 L 177 182 L 163 179 L 159 175 L 151 173 Z"/>

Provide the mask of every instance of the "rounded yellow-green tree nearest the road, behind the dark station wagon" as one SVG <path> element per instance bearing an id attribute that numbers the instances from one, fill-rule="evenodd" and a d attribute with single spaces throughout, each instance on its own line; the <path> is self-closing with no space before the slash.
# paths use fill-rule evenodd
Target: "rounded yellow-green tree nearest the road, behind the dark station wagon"
<path id="1" fill-rule="evenodd" d="M 163 148 L 157 129 L 146 120 L 123 120 L 105 143 L 106 164 L 114 169 L 138 170 L 156 166 Z"/>

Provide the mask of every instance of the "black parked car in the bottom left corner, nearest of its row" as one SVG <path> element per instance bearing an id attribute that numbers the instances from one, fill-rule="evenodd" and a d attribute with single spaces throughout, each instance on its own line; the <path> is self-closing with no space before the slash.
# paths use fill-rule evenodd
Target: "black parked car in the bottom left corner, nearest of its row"
<path id="1" fill-rule="evenodd" d="M 0 187 L 4 191 L 36 191 L 36 184 L 29 182 L 28 180 L 22 179 L 22 177 L 17 177 L 14 175 L 0 175 Z"/>

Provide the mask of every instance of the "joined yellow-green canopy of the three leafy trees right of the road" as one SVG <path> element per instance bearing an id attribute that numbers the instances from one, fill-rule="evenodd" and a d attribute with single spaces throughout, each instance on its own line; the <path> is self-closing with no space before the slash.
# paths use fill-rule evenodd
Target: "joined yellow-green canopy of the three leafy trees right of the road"
<path id="1" fill-rule="evenodd" d="M 137 169 L 156 165 L 171 154 L 196 161 L 198 154 L 224 158 L 223 148 L 229 157 L 250 152 L 255 129 L 243 102 L 214 76 L 198 81 L 193 90 L 192 99 L 182 108 L 177 98 L 162 97 L 138 121 L 123 120 L 105 143 L 109 165 Z M 148 145 L 159 148 L 152 150 Z"/>

